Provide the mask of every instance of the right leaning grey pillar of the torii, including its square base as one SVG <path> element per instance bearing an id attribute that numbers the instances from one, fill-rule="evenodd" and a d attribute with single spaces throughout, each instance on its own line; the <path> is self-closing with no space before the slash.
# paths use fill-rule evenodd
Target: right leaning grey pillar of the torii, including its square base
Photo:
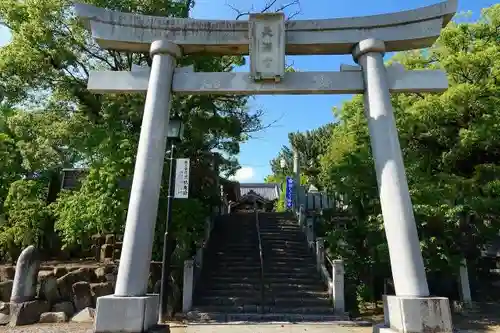
<path id="1" fill-rule="evenodd" d="M 429 297 L 413 207 L 383 55 L 385 43 L 377 39 L 359 42 L 353 50 L 365 84 L 365 116 L 389 247 L 396 296 L 384 296 L 384 321 L 375 331 L 451 332 L 451 312 L 445 297 Z"/>

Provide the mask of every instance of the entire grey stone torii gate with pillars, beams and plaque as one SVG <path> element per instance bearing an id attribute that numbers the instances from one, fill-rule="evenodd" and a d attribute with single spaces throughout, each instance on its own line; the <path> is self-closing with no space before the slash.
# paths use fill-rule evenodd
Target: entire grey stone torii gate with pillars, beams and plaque
<path id="1" fill-rule="evenodd" d="M 396 296 L 387 296 L 385 326 L 398 332 L 451 332 L 446 298 L 429 297 L 391 93 L 442 92 L 441 71 L 384 66 L 385 52 L 425 48 L 456 12 L 456 0 L 384 15 L 286 21 L 281 13 L 248 21 L 154 17 L 75 5 L 105 49 L 150 52 L 151 69 L 91 72 L 98 93 L 147 92 L 114 295 L 100 297 L 96 332 L 142 332 L 158 320 L 158 295 L 147 295 L 171 93 L 364 94 Z M 183 54 L 250 54 L 250 73 L 176 69 Z M 285 55 L 352 54 L 359 66 L 339 72 L 285 73 Z"/>

